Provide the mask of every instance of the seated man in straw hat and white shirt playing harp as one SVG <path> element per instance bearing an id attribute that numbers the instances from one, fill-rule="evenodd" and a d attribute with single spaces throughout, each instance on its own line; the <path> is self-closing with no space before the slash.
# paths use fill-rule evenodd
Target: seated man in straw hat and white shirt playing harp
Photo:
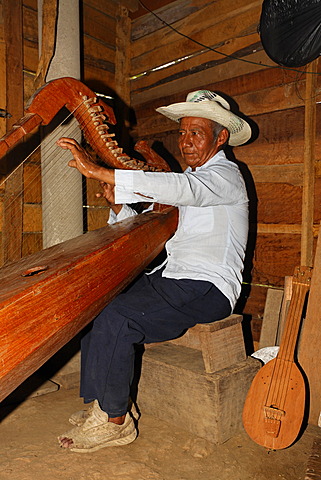
<path id="1" fill-rule="evenodd" d="M 73 415 L 76 426 L 58 439 L 76 452 L 135 440 L 128 412 L 135 344 L 169 340 L 196 323 L 222 319 L 240 294 L 248 199 L 240 171 L 223 149 L 245 143 L 251 129 L 221 96 L 207 90 L 157 110 L 180 123 L 184 173 L 108 170 L 91 162 L 74 140 L 58 141 L 73 154 L 71 167 L 105 185 L 117 220 L 132 213 L 127 203 L 137 201 L 179 209 L 166 261 L 113 300 L 83 339 L 80 394 L 93 405 Z"/>

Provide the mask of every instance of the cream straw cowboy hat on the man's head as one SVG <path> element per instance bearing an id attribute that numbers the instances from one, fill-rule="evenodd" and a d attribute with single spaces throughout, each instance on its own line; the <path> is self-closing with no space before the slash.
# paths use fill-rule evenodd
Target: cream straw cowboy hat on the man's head
<path id="1" fill-rule="evenodd" d="M 231 112 L 230 104 L 224 98 L 209 90 L 191 92 L 185 102 L 159 107 L 156 111 L 175 122 L 179 122 L 182 117 L 201 117 L 220 123 L 228 129 L 228 143 L 233 147 L 242 145 L 251 137 L 250 125 Z"/>

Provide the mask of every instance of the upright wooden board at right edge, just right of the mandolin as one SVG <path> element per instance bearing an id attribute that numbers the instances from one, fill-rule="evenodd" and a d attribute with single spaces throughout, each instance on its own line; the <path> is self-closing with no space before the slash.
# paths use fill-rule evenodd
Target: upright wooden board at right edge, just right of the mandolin
<path id="1" fill-rule="evenodd" d="M 309 423 L 318 425 L 321 412 L 321 237 L 314 257 L 311 289 L 303 322 L 298 360 L 309 384 Z"/>

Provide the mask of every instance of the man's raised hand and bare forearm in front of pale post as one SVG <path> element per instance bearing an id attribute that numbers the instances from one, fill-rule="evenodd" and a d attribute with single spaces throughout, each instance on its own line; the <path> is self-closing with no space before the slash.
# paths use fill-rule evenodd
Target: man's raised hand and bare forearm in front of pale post
<path id="1" fill-rule="evenodd" d="M 114 171 L 94 163 L 76 140 L 62 137 L 57 141 L 57 145 L 65 150 L 70 150 L 72 153 L 74 158 L 68 162 L 70 167 L 77 168 L 87 178 L 93 178 L 111 186 L 115 185 Z"/>

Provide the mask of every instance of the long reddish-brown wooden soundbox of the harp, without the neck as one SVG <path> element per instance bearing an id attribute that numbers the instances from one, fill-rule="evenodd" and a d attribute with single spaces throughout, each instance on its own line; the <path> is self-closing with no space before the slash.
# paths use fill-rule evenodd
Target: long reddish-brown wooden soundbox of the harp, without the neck
<path id="1" fill-rule="evenodd" d="M 174 208 L 143 214 L 1 269 L 0 401 L 129 284 L 176 225 Z"/>

